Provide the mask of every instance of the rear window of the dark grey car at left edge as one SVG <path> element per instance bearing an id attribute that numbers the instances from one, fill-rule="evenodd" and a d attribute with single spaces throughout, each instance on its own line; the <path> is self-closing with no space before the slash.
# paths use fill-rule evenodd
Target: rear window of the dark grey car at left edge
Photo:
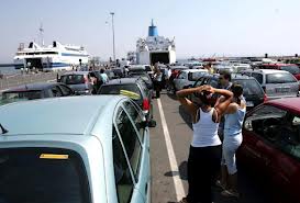
<path id="1" fill-rule="evenodd" d="M 2 101 L 35 100 L 42 98 L 42 90 L 3 92 Z"/>

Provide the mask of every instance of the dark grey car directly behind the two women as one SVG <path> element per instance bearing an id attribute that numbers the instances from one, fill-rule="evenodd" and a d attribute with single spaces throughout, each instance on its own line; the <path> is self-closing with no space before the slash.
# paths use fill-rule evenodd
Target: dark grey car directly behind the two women
<path id="1" fill-rule="evenodd" d="M 218 74 L 215 75 L 205 75 L 198 79 L 193 87 L 199 87 L 203 84 L 210 84 L 214 88 L 220 88 L 219 83 L 219 76 Z M 232 74 L 232 82 L 236 82 L 241 84 L 244 89 L 243 95 L 246 100 L 246 106 L 247 111 L 253 109 L 254 106 L 265 102 L 268 100 L 267 95 L 265 94 L 263 88 L 258 83 L 258 81 L 248 76 L 242 76 L 240 74 Z M 191 95 L 190 98 L 195 103 L 200 103 L 198 97 Z"/>

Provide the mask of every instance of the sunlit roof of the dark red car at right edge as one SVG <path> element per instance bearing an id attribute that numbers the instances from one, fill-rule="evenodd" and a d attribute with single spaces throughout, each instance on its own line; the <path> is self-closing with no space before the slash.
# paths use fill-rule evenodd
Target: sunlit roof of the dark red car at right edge
<path id="1" fill-rule="evenodd" d="M 278 100 L 269 100 L 267 101 L 268 104 L 282 108 L 286 110 L 292 110 L 293 112 L 300 114 L 300 98 L 285 98 Z"/>

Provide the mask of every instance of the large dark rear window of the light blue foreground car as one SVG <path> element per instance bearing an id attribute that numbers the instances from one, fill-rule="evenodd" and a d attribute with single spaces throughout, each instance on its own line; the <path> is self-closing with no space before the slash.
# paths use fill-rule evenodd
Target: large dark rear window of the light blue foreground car
<path id="1" fill-rule="evenodd" d="M 0 202 L 91 202 L 82 160 L 65 149 L 0 149 Z"/>

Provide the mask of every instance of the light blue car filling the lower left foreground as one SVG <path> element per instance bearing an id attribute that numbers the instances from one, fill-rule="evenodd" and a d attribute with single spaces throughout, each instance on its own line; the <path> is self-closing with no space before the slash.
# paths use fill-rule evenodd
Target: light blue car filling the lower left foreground
<path id="1" fill-rule="evenodd" d="M 149 129 L 126 97 L 15 102 L 0 121 L 1 202 L 151 202 Z"/>

